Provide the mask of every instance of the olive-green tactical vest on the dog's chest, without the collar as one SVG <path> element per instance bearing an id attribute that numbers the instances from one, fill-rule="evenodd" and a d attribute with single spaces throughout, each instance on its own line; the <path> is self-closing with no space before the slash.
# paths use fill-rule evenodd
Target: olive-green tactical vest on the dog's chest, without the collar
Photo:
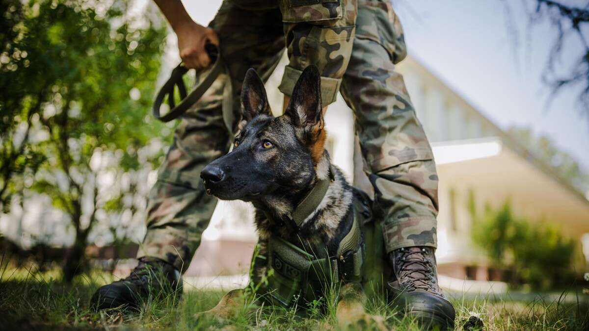
<path id="1" fill-rule="evenodd" d="M 327 245 L 334 238 L 326 240 L 318 231 L 299 231 L 296 236 L 286 238 L 274 233 L 269 237 L 266 244 L 269 273 L 263 291 L 273 304 L 289 307 L 298 299 L 311 302 L 325 296 L 330 284 L 362 279 L 364 253 L 360 224 L 363 218 L 361 213 L 353 212 L 353 207 L 350 211 L 342 219 L 342 224 L 350 224 L 340 229 L 342 233 L 335 249 L 330 250 Z"/>

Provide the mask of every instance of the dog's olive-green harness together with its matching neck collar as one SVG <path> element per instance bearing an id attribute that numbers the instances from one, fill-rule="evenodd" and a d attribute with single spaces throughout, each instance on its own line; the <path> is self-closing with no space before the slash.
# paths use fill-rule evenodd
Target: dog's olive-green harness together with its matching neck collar
<path id="1" fill-rule="evenodd" d="M 319 181 L 286 220 L 298 231 L 302 222 L 316 210 L 333 180 Z M 362 240 L 363 221 L 370 217 L 368 204 L 354 195 L 352 227 L 340 241 L 335 256 L 329 256 L 325 247 L 305 251 L 296 244 L 273 236 L 267 244 L 268 266 L 273 274 L 268 277 L 267 292 L 274 303 L 290 307 L 297 299 L 312 302 L 325 296 L 326 284 L 335 282 L 361 282 L 365 248 Z"/>

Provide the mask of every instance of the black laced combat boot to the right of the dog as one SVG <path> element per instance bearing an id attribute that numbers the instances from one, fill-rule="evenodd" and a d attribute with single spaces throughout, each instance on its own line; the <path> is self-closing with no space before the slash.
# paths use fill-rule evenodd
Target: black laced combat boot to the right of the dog
<path id="1" fill-rule="evenodd" d="M 425 327 L 454 328 L 454 307 L 438 286 L 432 247 L 405 247 L 389 253 L 391 299 Z"/>

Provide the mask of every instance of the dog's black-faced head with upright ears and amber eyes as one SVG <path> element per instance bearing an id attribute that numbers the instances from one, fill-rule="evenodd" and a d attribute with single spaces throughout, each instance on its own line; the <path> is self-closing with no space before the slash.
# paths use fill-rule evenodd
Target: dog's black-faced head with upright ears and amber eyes
<path id="1" fill-rule="evenodd" d="M 316 176 L 326 139 L 317 68 L 303 71 L 280 117 L 273 117 L 264 84 L 249 69 L 241 89 L 241 123 L 233 150 L 200 173 L 207 193 L 253 201 L 305 190 Z"/>

